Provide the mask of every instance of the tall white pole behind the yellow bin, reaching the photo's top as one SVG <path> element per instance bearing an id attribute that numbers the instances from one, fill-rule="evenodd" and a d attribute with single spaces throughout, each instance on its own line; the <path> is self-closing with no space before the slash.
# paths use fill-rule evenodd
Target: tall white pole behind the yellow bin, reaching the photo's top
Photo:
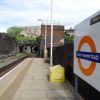
<path id="1" fill-rule="evenodd" d="M 51 48 L 50 48 L 50 66 L 53 66 L 53 2 L 51 0 Z"/>

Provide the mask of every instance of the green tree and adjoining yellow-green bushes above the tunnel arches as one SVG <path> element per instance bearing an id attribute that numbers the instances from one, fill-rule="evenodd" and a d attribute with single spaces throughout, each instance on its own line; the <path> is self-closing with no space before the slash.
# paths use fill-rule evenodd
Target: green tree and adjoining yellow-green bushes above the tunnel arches
<path id="1" fill-rule="evenodd" d="M 7 30 L 7 36 L 11 38 L 15 38 L 16 42 L 20 45 L 23 44 L 34 44 L 38 43 L 40 41 L 40 36 L 30 36 L 25 37 L 24 35 L 21 35 L 20 32 L 23 29 L 20 27 L 11 27 Z"/>

